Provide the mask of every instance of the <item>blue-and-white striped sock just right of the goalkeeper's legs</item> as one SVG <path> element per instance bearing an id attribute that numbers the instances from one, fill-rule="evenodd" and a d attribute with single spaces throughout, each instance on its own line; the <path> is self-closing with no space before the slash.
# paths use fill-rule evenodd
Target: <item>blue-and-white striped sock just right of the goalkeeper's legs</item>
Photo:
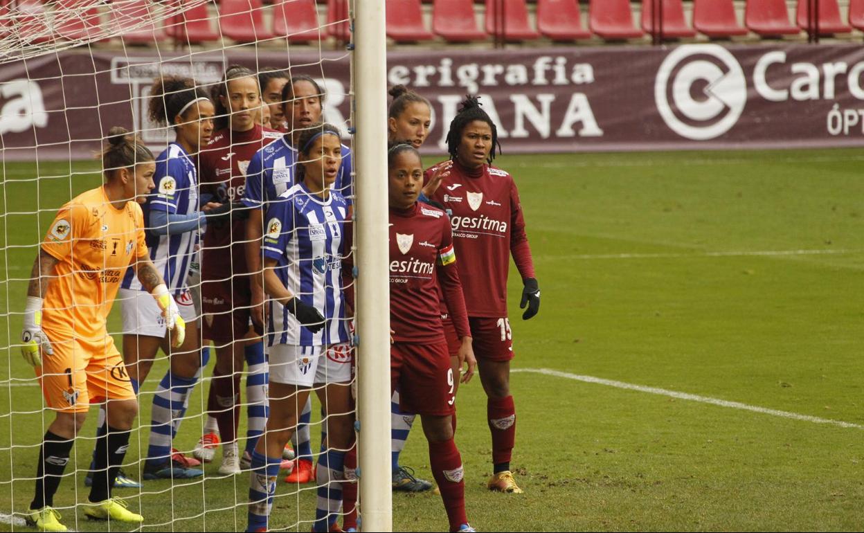
<path id="1" fill-rule="evenodd" d="M 177 434 L 175 422 L 186 414 L 187 397 L 197 381 L 168 371 L 159 382 L 150 416 L 149 466 L 162 465 L 171 459 L 171 442 Z"/>

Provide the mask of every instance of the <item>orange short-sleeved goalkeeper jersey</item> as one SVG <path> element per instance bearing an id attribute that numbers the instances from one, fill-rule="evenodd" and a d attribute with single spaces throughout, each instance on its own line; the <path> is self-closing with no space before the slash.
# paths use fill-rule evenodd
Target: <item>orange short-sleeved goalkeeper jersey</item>
<path id="1" fill-rule="evenodd" d="M 135 201 L 111 205 L 104 187 L 79 194 L 60 207 L 42 250 L 59 263 L 42 305 L 42 327 L 49 332 L 95 339 L 130 263 L 148 257 L 144 216 Z"/>

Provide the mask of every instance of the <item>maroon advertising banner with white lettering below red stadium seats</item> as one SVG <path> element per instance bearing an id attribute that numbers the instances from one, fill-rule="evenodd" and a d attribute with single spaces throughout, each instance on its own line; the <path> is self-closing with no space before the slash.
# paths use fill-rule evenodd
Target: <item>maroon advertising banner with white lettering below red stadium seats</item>
<path id="1" fill-rule="evenodd" d="M 411 50 L 387 61 L 390 85 L 433 105 L 428 152 L 444 151 L 467 93 L 481 95 L 507 153 L 864 146 L 859 45 Z M 71 50 L 0 67 L 3 158 L 84 158 L 115 124 L 157 146 L 166 132 L 144 117 L 154 76 L 212 83 L 232 63 L 323 79 L 327 120 L 350 119 L 345 52 Z"/>

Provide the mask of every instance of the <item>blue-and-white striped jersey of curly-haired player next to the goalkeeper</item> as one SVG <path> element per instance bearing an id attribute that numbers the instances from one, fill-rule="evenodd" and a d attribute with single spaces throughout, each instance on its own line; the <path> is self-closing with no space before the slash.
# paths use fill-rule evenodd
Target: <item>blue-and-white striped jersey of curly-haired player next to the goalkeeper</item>
<path id="1" fill-rule="evenodd" d="M 198 211 L 198 176 L 195 164 L 180 144 L 170 143 L 168 149 L 156 157 L 156 174 L 153 174 L 156 191 L 147 197 L 142 206 L 144 224 L 149 225 L 150 213 L 161 210 L 170 214 L 191 214 Z M 150 259 L 168 290 L 180 295 L 186 288 L 191 263 L 197 261 L 199 232 L 183 232 L 178 235 L 155 235 L 147 232 L 147 247 Z M 143 290 L 133 269 L 126 271 L 123 289 Z"/>

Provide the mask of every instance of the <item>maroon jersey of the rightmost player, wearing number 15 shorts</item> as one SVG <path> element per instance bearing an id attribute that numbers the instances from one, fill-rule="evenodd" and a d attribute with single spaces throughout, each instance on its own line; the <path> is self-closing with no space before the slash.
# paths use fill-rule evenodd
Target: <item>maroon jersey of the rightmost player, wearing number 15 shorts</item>
<path id="1" fill-rule="evenodd" d="M 435 168 L 426 171 L 427 180 Z M 507 316 L 510 256 L 523 279 L 537 277 L 512 176 L 486 164 L 473 172 L 454 162 L 432 200 L 452 213 L 450 225 L 468 316 Z"/>

